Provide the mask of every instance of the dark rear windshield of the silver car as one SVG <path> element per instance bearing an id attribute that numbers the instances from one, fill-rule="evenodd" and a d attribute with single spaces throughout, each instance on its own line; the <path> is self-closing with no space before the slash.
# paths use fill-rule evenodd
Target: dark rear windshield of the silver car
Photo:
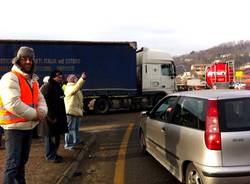
<path id="1" fill-rule="evenodd" d="M 250 130 L 250 98 L 219 101 L 221 131 Z"/>

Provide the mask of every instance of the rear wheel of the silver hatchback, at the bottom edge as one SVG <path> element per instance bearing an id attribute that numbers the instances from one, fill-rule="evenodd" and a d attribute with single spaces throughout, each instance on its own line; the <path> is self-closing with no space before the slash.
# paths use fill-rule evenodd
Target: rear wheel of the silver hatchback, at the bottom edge
<path id="1" fill-rule="evenodd" d="M 188 164 L 185 181 L 186 184 L 203 184 L 201 175 L 193 163 Z"/>

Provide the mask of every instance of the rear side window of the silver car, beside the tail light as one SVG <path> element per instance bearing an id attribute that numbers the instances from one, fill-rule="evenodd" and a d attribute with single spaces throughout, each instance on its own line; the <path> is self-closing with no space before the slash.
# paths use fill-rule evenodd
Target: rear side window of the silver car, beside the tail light
<path id="1" fill-rule="evenodd" d="M 173 123 L 200 130 L 205 129 L 206 100 L 181 97 L 176 104 Z"/>

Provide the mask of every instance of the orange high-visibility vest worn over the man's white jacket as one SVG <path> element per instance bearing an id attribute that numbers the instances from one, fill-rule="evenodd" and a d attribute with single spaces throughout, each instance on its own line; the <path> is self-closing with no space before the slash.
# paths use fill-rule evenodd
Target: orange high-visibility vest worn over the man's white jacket
<path id="1" fill-rule="evenodd" d="M 14 73 L 18 77 L 19 85 L 20 85 L 21 101 L 31 107 L 37 108 L 38 89 L 39 89 L 38 82 L 34 81 L 32 88 L 31 88 L 28 81 L 22 74 L 16 71 L 11 71 L 11 72 Z M 12 112 L 6 110 L 3 106 L 3 102 L 0 97 L 0 124 L 7 125 L 7 124 L 12 124 L 12 123 L 27 122 L 27 121 L 29 120 L 16 116 Z"/>

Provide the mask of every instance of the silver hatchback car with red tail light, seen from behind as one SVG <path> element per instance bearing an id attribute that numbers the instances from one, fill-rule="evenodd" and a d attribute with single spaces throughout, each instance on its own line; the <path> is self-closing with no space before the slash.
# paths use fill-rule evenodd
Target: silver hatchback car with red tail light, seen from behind
<path id="1" fill-rule="evenodd" d="M 139 135 L 180 182 L 250 183 L 250 91 L 171 94 L 142 112 Z"/>

